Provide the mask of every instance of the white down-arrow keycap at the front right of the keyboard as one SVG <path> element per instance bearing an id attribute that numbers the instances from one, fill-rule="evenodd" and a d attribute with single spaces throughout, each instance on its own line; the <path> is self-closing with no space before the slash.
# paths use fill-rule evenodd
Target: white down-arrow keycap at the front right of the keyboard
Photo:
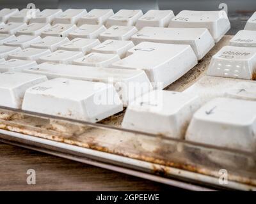
<path id="1" fill-rule="evenodd" d="M 255 101 L 216 98 L 193 115 L 186 140 L 254 152 L 255 136 Z"/>

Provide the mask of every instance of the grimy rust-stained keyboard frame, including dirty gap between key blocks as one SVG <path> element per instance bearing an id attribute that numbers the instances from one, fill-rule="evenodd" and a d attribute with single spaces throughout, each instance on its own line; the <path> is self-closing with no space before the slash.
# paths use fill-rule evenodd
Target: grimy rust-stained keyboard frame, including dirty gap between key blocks
<path id="1" fill-rule="evenodd" d="M 166 90 L 184 91 L 194 84 L 205 75 L 212 55 L 231 38 L 224 36 L 195 68 Z M 7 113 L 5 119 L 0 117 L 0 142 L 184 189 L 256 190 L 255 153 L 125 130 L 120 128 L 124 112 L 97 124 L 1 106 L 0 113 Z M 221 185 L 219 170 L 225 168 L 228 184 Z"/>

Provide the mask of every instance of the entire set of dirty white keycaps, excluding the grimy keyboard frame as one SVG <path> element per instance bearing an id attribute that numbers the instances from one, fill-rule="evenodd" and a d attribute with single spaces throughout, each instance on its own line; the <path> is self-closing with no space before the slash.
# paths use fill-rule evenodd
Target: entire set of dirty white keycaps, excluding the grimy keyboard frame
<path id="1" fill-rule="evenodd" d="M 184 92 L 163 91 L 230 29 L 225 11 L 0 11 L 0 106 L 256 151 L 256 13 Z"/>

